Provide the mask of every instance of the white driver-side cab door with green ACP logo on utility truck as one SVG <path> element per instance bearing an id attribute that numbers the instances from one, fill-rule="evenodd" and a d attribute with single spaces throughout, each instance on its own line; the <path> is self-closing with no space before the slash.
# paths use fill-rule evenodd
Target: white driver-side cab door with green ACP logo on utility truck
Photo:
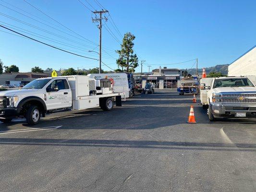
<path id="1" fill-rule="evenodd" d="M 47 109 L 69 108 L 72 106 L 71 90 L 66 79 L 52 81 L 46 88 Z"/>

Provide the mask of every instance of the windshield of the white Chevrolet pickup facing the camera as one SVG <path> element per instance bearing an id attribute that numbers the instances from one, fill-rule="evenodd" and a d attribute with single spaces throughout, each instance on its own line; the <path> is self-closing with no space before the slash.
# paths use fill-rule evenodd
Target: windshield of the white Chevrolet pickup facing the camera
<path id="1" fill-rule="evenodd" d="M 216 79 L 213 88 L 217 87 L 248 87 L 254 86 L 247 78 Z"/>

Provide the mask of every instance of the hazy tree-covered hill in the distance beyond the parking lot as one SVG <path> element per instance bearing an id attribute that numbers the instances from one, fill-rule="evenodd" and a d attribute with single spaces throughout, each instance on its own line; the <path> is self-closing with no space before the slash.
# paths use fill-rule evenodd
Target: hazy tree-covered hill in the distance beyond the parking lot
<path id="1" fill-rule="evenodd" d="M 221 72 L 223 75 L 228 74 L 228 66 L 229 64 L 223 64 L 223 65 L 216 65 L 214 67 L 207 67 L 206 69 L 206 74 L 208 74 L 209 72 Z M 182 71 L 185 71 L 186 69 L 182 69 Z M 196 68 L 192 68 L 192 69 L 187 69 L 187 72 L 189 74 L 195 75 L 196 73 Z M 202 73 L 203 69 L 202 68 L 198 68 L 198 73 Z"/>

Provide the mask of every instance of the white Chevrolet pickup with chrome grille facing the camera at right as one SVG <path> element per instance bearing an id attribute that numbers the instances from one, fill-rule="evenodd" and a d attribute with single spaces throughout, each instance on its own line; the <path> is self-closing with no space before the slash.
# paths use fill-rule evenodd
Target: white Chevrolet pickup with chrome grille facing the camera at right
<path id="1" fill-rule="evenodd" d="M 216 118 L 256 118 L 256 87 L 247 77 L 200 80 L 200 99 L 208 107 L 210 121 Z"/>

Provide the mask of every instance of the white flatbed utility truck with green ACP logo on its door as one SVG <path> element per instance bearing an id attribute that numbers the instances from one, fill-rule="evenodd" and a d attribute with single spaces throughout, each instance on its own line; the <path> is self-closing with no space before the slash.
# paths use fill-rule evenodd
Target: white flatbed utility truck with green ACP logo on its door
<path id="1" fill-rule="evenodd" d="M 114 93 L 109 79 L 95 80 L 82 75 L 40 78 L 22 89 L 0 92 L 0 121 L 25 117 L 28 124 L 35 125 L 46 113 L 71 108 L 111 110 L 113 98 L 116 106 L 122 106 L 123 95 Z"/>

